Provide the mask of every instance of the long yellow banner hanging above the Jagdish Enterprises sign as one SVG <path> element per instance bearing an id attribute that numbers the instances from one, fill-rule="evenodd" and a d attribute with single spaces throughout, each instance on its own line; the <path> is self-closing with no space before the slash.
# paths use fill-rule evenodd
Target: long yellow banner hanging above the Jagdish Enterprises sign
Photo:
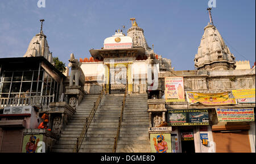
<path id="1" fill-rule="evenodd" d="M 232 92 L 200 93 L 187 92 L 188 103 L 202 103 L 209 106 L 237 104 Z"/>

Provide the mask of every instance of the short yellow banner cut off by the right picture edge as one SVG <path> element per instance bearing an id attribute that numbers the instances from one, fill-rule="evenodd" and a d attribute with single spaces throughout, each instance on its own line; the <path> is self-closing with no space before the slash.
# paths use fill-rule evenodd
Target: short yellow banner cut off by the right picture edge
<path id="1" fill-rule="evenodd" d="M 232 90 L 238 103 L 255 103 L 255 89 Z"/>

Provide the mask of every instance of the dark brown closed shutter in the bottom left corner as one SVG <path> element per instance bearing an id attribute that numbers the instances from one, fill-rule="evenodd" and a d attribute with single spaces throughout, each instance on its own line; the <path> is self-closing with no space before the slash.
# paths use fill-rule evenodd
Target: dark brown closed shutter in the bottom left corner
<path id="1" fill-rule="evenodd" d="M 20 153 L 23 129 L 4 129 L 1 153 Z"/>

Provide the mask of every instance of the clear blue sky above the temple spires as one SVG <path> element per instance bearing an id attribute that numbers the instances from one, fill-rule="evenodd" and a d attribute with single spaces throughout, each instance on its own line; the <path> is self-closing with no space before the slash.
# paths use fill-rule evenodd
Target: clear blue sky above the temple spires
<path id="1" fill-rule="evenodd" d="M 38 0 L 0 1 L 0 58 L 22 57 L 28 44 L 43 31 L 53 57 L 68 65 L 76 58 L 90 57 L 89 49 L 101 49 L 104 39 L 136 18 L 150 47 L 170 58 L 175 70 L 193 70 L 193 59 L 204 27 L 209 22 L 209 0 Z M 255 62 L 255 1 L 216 0 L 213 23 L 236 60 Z"/>

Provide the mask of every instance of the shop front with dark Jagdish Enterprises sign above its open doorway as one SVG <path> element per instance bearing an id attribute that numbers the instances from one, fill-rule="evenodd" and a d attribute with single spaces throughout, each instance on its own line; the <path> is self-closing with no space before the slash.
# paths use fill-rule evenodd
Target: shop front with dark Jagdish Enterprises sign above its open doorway
<path id="1" fill-rule="evenodd" d="M 172 127 L 172 153 L 203 153 L 210 148 L 208 110 L 168 110 L 167 123 Z"/>

